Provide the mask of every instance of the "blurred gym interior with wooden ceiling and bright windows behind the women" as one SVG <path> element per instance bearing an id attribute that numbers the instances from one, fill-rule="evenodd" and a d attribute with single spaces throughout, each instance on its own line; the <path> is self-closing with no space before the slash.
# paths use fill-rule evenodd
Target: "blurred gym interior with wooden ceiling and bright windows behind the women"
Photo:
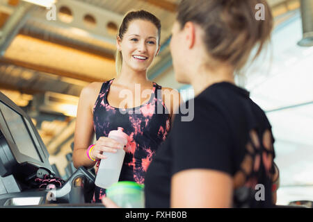
<path id="1" fill-rule="evenodd" d="M 148 78 L 191 99 L 177 83 L 169 42 L 179 0 L 0 0 L 0 91 L 29 114 L 62 178 L 71 164 L 79 94 L 115 76 L 115 35 L 129 10 L 161 19 L 161 53 Z M 268 50 L 238 78 L 266 111 L 280 168 L 278 204 L 313 200 L 313 0 L 268 0 Z"/>

